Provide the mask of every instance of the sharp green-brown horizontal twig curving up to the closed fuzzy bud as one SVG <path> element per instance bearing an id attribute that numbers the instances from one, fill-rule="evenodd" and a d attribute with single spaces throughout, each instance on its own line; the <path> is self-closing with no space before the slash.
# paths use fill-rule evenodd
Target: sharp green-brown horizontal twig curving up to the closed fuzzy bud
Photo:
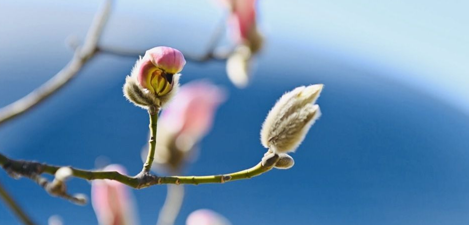
<path id="1" fill-rule="evenodd" d="M 273 154 L 271 157 L 262 158 L 257 165 L 227 174 L 207 176 L 157 176 L 150 173 L 140 172 L 136 176 L 128 176 L 117 171 L 92 171 L 70 167 L 73 177 L 82 179 L 112 179 L 124 183 L 133 188 L 145 188 L 157 184 L 200 184 L 200 183 L 224 183 L 238 179 L 249 179 L 271 170 L 278 161 L 279 156 Z M 33 177 L 41 173 L 55 174 L 62 166 L 48 165 L 34 161 L 14 160 L 0 153 L 0 165 L 13 177 Z"/>

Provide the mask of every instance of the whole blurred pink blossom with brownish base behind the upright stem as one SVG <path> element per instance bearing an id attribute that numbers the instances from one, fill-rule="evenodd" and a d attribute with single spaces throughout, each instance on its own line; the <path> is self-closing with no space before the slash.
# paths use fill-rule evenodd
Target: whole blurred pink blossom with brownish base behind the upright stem
<path id="1" fill-rule="evenodd" d="M 180 167 L 212 127 L 215 111 L 225 95 L 222 88 L 208 81 L 192 81 L 181 86 L 158 121 L 154 160 L 157 167 L 158 164 L 173 170 Z"/>

